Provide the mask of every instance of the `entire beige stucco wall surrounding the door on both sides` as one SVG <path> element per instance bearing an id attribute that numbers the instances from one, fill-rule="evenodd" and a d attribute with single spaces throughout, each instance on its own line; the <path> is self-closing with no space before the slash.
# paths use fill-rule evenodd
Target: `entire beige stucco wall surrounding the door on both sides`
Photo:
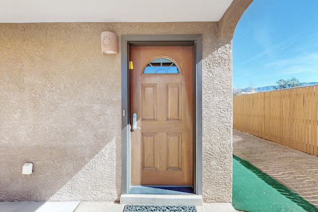
<path id="1" fill-rule="evenodd" d="M 0 201 L 120 198 L 121 53 L 100 51 L 100 33 L 113 31 L 119 44 L 122 34 L 203 35 L 203 200 L 231 202 L 233 29 L 225 25 L 0 24 Z M 32 175 L 21 174 L 25 162 Z"/>

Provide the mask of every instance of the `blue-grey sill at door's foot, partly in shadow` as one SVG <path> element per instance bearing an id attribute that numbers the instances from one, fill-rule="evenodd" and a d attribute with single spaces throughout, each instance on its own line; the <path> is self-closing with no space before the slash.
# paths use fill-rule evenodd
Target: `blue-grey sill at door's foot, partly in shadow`
<path id="1" fill-rule="evenodd" d="M 192 186 L 132 186 L 129 194 L 171 194 L 171 195 L 193 195 Z"/>

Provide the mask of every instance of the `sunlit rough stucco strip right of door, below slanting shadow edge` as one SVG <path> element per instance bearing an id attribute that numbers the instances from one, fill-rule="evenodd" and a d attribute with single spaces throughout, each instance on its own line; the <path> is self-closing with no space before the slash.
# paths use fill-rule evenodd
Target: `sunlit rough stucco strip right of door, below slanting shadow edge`
<path id="1" fill-rule="evenodd" d="M 232 46 L 203 59 L 203 200 L 231 202 L 232 197 Z"/>

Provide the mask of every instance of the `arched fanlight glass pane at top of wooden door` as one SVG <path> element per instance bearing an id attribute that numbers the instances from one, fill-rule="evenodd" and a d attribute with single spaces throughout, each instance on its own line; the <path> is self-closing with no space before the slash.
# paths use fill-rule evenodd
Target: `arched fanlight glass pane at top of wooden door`
<path id="1" fill-rule="evenodd" d="M 157 58 L 146 66 L 144 73 L 179 73 L 179 70 L 169 59 Z"/>

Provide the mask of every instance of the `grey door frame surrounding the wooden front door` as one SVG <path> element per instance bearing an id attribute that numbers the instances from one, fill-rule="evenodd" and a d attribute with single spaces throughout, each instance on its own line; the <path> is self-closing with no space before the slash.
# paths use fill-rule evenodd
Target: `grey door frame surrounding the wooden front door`
<path id="1" fill-rule="evenodd" d="M 194 70 L 194 192 L 202 195 L 202 35 L 122 35 L 121 36 L 121 101 L 122 101 L 122 194 L 131 188 L 131 146 L 129 111 L 129 47 L 136 46 L 193 46 Z"/>

